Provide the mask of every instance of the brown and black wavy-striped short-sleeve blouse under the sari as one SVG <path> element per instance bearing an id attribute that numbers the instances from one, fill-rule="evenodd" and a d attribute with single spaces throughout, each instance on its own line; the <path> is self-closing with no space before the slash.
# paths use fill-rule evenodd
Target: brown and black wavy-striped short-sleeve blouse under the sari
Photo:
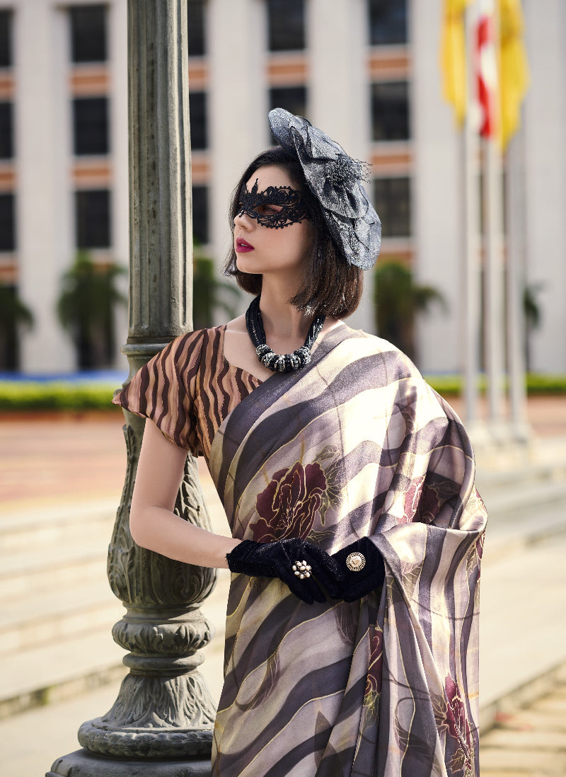
<path id="1" fill-rule="evenodd" d="M 113 403 L 150 418 L 168 440 L 208 462 L 224 418 L 261 381 L 224 358 L 226 325 L 172 340 L 137 371 Z"/>

